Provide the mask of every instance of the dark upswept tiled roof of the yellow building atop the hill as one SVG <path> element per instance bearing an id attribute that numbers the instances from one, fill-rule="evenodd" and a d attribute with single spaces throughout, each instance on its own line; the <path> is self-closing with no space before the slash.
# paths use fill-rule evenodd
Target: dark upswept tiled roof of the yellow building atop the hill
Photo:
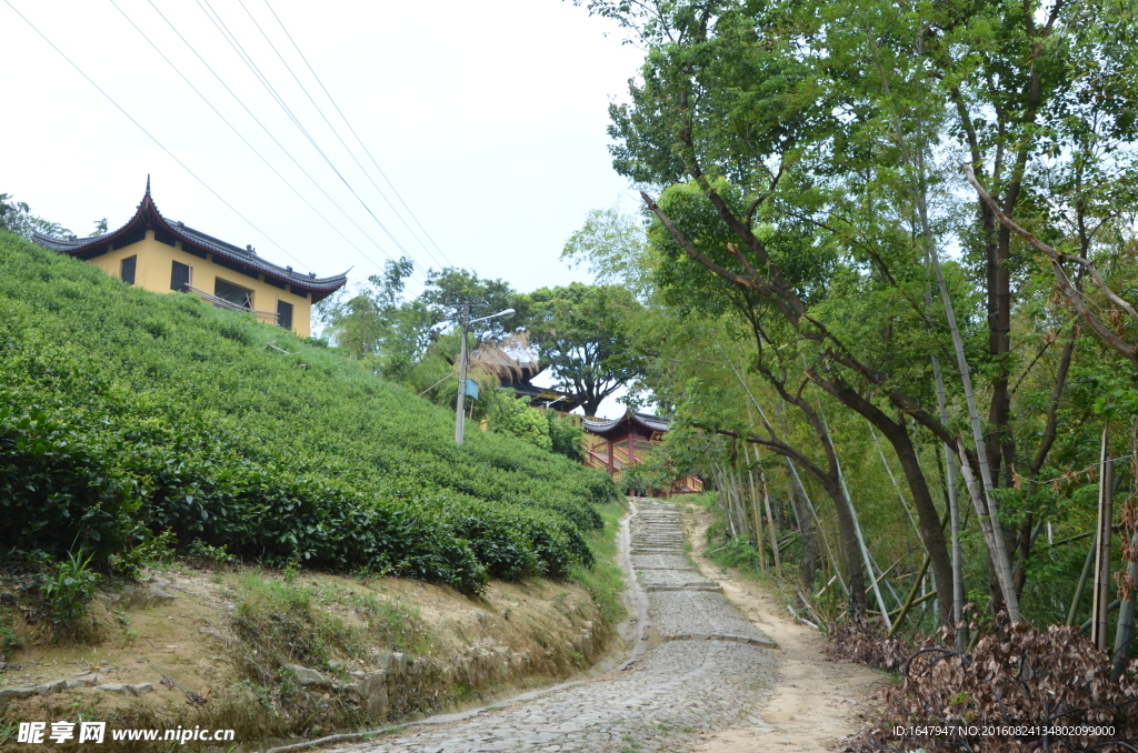
<path id="1" fill-rule="evenodd" d="M 181 240 L 183 248 L 191 247 L 203 253 L 213 254 L 229 262 L 246 266 L 249 270 L 261 272 L 266 276 L 287 282 L 299 290 L 311 292 L 313 303 L 327 298 L 347 282 L 347 273 L 331 278 L 318 278 L 314 273 L 304 274 L 296 272 L 290 266 L 278 266 L 272 262 L 261 258 L 251 246 L 240 248 L 208 235 L 200 230 L 188 227 L 184 223 L 166 220 L 158 212 L 157 205 L 155 205 L 154 199 L 150 197 L 149 181 L 147 182 L 146 196 L 142 197 L 138 210 L 122 227 L 91 238 L 75 238 L 74 235 L 71 238 L 55 238 L 52 235 L 44 235 L 43 233 L 33 233 L 33 240 L 44 248 L 86 259 L 104 253 L 108 243 L 117 246 L 118 241 L 130 240 L 132 235 L 137 235 L 140 231 L 146 230 L 165 231 Z M 133 241 L 131 240 L 131 242 Z"/>

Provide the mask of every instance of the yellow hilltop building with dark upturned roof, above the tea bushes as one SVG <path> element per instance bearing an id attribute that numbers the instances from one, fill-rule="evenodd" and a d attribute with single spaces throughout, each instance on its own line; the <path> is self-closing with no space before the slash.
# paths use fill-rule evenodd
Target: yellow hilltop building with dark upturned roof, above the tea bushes
<path id="1" fill-rule="evenodd" d="M 125 225 L 93 238 L 35 233 L 36 243 L 90 262 L 123 282 L 155 292 L 191 292 L 220 308 L 308 337 L 312 305 L 344 287 L 347 275 L 318 278 L 277 266 L 251 246 L 239 248 L 163 217 L 146 196 Z"/>

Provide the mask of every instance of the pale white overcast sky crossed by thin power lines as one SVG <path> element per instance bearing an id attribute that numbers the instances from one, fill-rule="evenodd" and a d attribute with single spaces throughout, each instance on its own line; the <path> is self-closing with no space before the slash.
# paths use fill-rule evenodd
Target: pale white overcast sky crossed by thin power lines
<path id="1" fill-rule="evenodd" d="M 149 175 L 164 216 L 279 264 L 409 255 L 412 296 L 451 265 L 588 282 L 566 239 L 635 206 L 607 150 L 642 60 L 620 39 L 562 0 L 0 0 L 0 192 L 82 237 Z"/>

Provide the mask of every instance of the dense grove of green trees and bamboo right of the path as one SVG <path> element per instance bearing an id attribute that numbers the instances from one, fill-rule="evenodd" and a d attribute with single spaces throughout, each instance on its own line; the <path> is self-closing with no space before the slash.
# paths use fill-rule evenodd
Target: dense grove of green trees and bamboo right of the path
<path id="1" fill-rule="evenodd" d="M 807 619 L 960 649 L 998 615 L 1072 624 L 1121 672 L 1132 3 L 583 5 L 645 50 L 609 126 L 642 205 L 564 254 L 645 304 L 638 387 L 678 417 L 660 473 L 712 479 Z"/>

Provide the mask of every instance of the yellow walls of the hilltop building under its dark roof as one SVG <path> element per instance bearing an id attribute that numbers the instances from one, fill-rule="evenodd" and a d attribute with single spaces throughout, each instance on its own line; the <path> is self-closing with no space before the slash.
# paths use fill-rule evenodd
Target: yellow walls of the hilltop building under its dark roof
<path id="1" fill-rule="evenodd" d="M 116 248 L 113 251 L 96 256 L 90 263 L 106 272 L 113 278 L 121 276 L 123 259 L 137 256 L 134 265 L 134 284 L 152 290 L 154 292 L 173 292 L 170 289 L 170 275 L 173 263 L 181 262 L 190 267 L 190 284 L 195 288 L 213 295 L 214 282 L 217 278 L 231 282 L 241 288 L 253 291 L 253 308 L 263 312 L 277 312 L 277 301 L 283 300 L 292 304 L 292 331 L 300 337 L 308 337 L 312 326 L 312 297 L 302 298 L 290 290 L 281 290 L 267 282 L 264 275 L 258 274 L 256 279 L 241 274 L 234 270 L 214 264 L 211 259 L 195 256 L 182 250 L 182 242 L 178 241 L 178 247 L 167 246 L 154 238 L 154 231 L 146 231 L 146 240 L 137 243 Z"/>

